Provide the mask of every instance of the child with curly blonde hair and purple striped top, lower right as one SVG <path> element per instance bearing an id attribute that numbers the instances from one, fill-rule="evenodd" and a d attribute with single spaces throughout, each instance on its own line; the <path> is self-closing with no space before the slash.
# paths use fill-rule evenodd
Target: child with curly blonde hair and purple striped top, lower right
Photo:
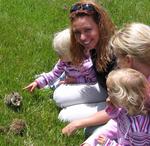
<path id="1" fill-rule="evenodd" d="M 150 84 L 134 69 L 118 69 L 107 78 L 106 112 L 117 122 L 117 142 L 100 135 L 103 146 L 150 145 Z"/>

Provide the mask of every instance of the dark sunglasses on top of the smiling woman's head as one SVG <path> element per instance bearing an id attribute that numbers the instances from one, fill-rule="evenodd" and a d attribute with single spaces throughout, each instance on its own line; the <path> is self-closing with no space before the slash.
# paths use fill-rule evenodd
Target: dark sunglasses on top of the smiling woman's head
<path id="1" fill-rule="evenodd" d="M 78 10 L 95 11 L 95 8 L 91 4 L 75 4 L 71 7 L 70 13 Z"/>

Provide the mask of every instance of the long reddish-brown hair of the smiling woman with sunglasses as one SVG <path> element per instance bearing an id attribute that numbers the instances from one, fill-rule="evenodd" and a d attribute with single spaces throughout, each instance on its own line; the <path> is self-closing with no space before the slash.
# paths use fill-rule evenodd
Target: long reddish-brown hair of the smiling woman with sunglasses
<path id="1" fill-rule="evenodd" d="M 70 23 L 71 23 L 71 55 L 73 63 L 78 65 L 83 62 L 85 57 L 85 48 L 77 42 L 75 34 L 73 32 L 73 22 L 76 18 L 82 18 L 84 16 L 91 17 L 93 21 L 97 24 L 100 34 L 100 39 L 98 42 L 98 47 L 96 49 L 96 69 L 97 71 L 107 70 L 107 64 L 110 62 L 112 57 L 112 52 L 107 50 L 108 42 L 111 36 L 114 34 L 115 26 L 111 21 L 107 11 L 94 0 L 80 0 L 74 5 L 78 4 L 90 4 L 94 7 L 94 13 L 88 13 L 88 11 L 76 11 L 70 13 Z"/>

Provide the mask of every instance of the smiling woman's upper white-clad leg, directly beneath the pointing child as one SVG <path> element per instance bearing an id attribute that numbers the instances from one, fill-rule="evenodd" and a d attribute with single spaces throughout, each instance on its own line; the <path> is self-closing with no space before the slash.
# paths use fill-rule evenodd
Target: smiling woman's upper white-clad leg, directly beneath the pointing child
<path id="1" fill-rule="evenodd" d="M 68 107 L 84 103 L 99 103 L 106 100 L 107 92 L 98 83 L 63 84 L 55 89 L 53 99 L 59 107 Z"/>

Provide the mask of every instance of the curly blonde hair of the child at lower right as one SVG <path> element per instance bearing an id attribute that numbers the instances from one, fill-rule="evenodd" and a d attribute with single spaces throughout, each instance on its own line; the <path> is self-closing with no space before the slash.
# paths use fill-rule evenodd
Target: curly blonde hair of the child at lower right
<path id="1" fill-rule="evenodd" d="M 150 85 L 142 73 L 131 68 L 113 70 L 108 75 L 107 87 L 110 101 L 126 109 L 129 115 L 148 113 Z"/>

